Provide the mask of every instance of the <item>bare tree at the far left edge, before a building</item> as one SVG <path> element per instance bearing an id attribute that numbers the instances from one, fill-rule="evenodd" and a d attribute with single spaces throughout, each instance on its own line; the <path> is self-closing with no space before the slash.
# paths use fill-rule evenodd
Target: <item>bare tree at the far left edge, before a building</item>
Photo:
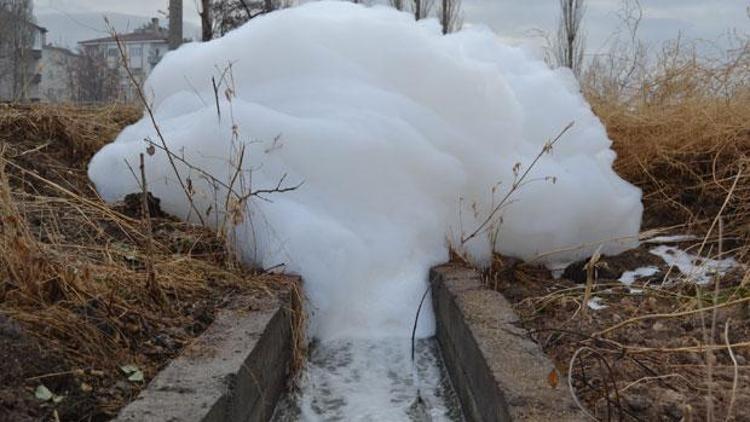
<path id="1" fill-rule="evenodd" d="M 31 0 L 0 0 L 0 98 L 27 99 L 36 34 Z"/>

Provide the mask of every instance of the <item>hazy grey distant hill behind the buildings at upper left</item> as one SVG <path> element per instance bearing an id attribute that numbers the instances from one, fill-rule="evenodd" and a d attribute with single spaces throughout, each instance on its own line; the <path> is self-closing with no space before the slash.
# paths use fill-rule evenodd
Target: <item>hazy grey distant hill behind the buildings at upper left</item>
<path id="1" fill-rule="evenodd" d="M 149 16 L 107 13 L 107 18 L 118 32 L 130 32 L 148 23 Z M 166 18 L 161 17 L 162 26 L 167 26 Z M 75 50 L 79 41 L 107 36 L 104 15 L 101 13 L 41 13 L 37 15 L 39 25 L 47 28 L 47 42 Z M 185 22 L 185 37 L 198 39 L 200 28 Z"/>

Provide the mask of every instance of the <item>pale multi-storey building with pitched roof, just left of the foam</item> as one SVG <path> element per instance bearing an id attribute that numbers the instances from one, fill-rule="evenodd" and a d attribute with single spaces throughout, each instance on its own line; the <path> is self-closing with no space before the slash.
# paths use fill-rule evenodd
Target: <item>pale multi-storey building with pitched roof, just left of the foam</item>
<path id="1" fill-rule="evenodd" d="M 127 57 L 128 68 L 139 84 L 143 84 L 154 67 L 169 50 L 169 33 L 159 25 L 159 19 L 128 34 L 118 34 Z M 122 68 L 122 57 L 114 37 L 97 38 L 79 43 L 84 54 L 102 58 L 111 70 L 122 70 L 120 74 L 121 101 L 133 101 L 137 94 L 127 72 Z"/>

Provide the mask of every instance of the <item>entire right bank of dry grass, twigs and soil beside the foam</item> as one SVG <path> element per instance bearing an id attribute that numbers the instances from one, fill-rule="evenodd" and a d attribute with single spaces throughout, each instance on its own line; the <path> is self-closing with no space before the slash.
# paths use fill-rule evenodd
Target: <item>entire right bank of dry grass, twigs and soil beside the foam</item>
<path id="1" fill-rule="evenodd" d="M 691 233 L 700 240 L 682 248 L 750 263 L 750 42 L 723 60 L 674 44 L 627 87 L 602 75 L 589 74 L 584 92 L 617 171 L 643 189 L 644 229 Z M 696 286 L 649 249 L 604 257 L 577 282 L 501 257 L 487 277 L 596 419 L 750 420 L 740 410 L 750 405 L 750 272 Z M 641 292 L 617 280 L 649 265 L 662 273 L 637 282 Z M 586 312 L 592 296 L 608 308 Z"/>

